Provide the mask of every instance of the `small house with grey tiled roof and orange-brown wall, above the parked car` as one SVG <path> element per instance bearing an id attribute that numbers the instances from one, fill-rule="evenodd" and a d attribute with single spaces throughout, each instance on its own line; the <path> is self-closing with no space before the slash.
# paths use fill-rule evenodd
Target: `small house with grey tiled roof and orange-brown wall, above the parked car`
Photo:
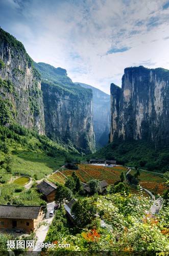
<path id="1" fill-rule="evenodd" d="M 57 186 L 49 181 L 43 180 L 36 186 L 38 192 L 43 194 L 43 198 L 47 202 L 52 202 L 55 200 L 55 192 Z"/>

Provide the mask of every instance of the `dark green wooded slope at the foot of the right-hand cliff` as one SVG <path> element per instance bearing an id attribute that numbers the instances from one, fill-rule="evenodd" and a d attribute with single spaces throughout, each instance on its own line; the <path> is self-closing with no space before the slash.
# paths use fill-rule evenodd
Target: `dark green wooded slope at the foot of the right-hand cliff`
<path id="1" fill-rule="evenodd" d="M 115 140 L 101 148 L 88 158 L 105 158 L 117 160 L 118 164 L 137 166 L 153 172 L 168 172 L 168 148 L 156 148 L 154 143 L 146 140 L 122 141 Z"/>

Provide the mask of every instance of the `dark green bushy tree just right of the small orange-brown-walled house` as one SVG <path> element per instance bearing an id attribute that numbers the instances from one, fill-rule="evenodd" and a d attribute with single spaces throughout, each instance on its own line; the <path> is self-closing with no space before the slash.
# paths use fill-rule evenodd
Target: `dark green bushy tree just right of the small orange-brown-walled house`
<path id="1" fill-rule="evenodd" d="M 55 193 L 55 202 L 60 203 L 60 205 L 64 202 L 64 200 L 71 200 L 73 198 L 73 195 L 71 193 L 71 190 L 67 187 L 64 187 L 62 185 L 59 185 L 56 188 Z"/>

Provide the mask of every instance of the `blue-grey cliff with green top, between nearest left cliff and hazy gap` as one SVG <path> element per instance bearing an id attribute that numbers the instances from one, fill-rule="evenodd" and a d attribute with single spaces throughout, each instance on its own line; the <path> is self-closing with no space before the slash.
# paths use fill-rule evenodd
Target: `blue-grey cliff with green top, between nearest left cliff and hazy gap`
<path id="1" fill-rule="evenodd" d="M 78 151 L 95 151 L 92 91 L 74 84 L 66 70 L 35 63 L 42 75 L 45 132 L 47 136 L 73 143 Z"/>

